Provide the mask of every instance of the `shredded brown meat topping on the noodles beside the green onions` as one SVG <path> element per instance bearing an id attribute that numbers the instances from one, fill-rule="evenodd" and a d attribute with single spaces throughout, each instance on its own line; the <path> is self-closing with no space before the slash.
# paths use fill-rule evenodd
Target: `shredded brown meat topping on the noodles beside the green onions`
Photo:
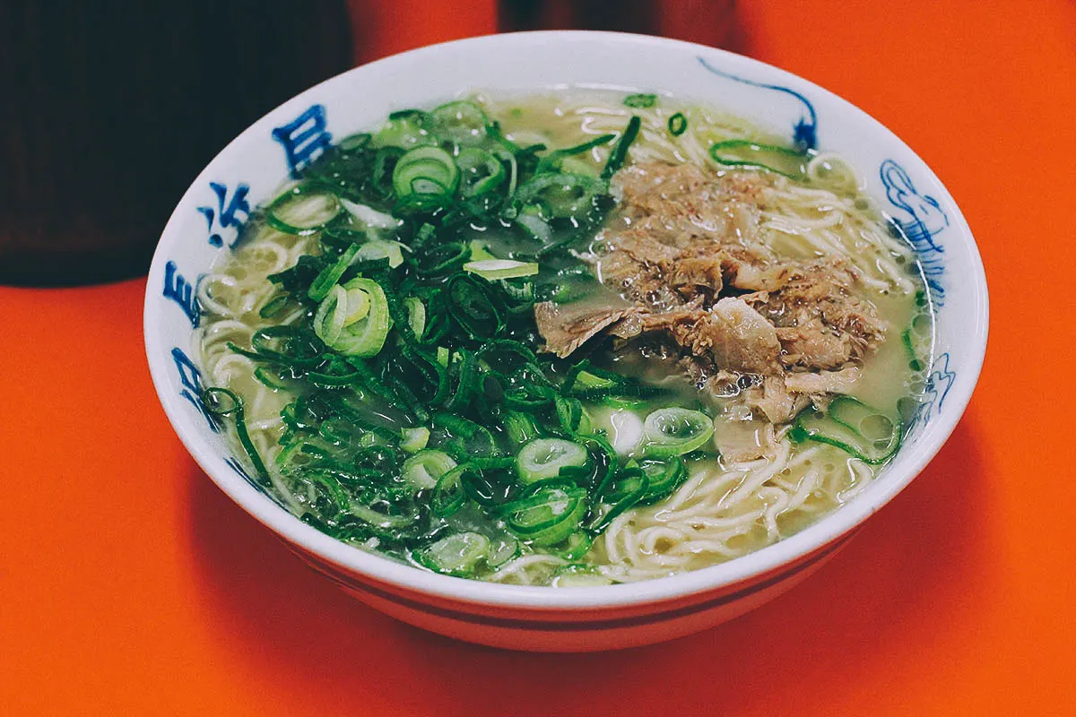
<path id="1" fill-rule="evenodd" d="M 886 325 L 849 261 L 782 259 L 761 240 L 768 181 L 656 161 L 621 170 L 618 216 L 590 260 L 632 303 L 536 305 L 546 350 L 565 358 L 603 335 L 661 344 L 694 384 L 738 392 L 773 422 L 851 390 Z"/>

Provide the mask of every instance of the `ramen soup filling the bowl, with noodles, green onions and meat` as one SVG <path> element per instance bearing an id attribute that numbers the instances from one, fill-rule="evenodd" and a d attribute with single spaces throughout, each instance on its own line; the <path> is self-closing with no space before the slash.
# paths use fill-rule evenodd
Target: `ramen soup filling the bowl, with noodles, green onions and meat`
<path id="1" fill-rule="evenodd" d="M 527 585 L 695 570 L 833 511 L 898 449 L 933 341 L 839 157 L 605 90 L 394 113 L 198 298 L 206 403 L 282 505 Z"/>

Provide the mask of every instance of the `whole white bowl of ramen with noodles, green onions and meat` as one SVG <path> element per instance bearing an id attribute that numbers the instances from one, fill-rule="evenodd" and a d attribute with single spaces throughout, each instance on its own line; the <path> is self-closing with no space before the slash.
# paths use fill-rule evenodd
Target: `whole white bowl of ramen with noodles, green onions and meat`
<path id="1" fill-rule="evenodd" d="M 165 411 L 243 510 L 378 610 L 536 650 L 818 570 L 940 448 L 986 336 L 967 224 L 884 127 L 592 32 L 281 105 L 180 201 L 145 302 Z"/>

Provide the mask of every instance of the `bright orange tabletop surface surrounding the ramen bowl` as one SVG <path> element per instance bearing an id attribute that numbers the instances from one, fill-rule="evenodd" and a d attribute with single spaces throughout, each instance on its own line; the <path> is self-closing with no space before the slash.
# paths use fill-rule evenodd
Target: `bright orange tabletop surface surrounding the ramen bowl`
<path id="1" fill-rule="evenodd" d="M 362 59 L 494 28 L 489 1 L 355 4 Z M 849 547 L 665 645 L 427 634 L 316 576 L 195 467 L 145 367 L 144 279 L 0 288 L 0 714 L 1076 714 L 1076 4 L 745 0 L 737 23 L 748 54 L 935 169 L 990 281 L 966 416 Z"/>

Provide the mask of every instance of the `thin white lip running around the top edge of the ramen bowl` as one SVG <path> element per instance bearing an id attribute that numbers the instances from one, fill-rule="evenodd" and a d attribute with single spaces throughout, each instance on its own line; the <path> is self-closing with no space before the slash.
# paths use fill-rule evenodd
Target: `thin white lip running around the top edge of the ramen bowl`
<path id="1" fill-rule="evenodd" d="M 151 376 L 169 422 L 181 442 L 197 464 L 231 500 L 286 542 L 346 571 L 381 584 L 457 604 L 469 603 L 478 607 L 524 608 L 541 612 L 629 607 L 690 599 L 692 596 L 712 594 L 722 588 L 791 567 L 849 534 L 866 518 L 889 503 L 919 475 L 928 462 L 940 450 L 963 416 L 981 372 L 989 332 L 989 295 L 982 259 L 966 219 L 948 189 L 919 155 L 892 130 L 839 96 L 804 77 L 753 58 L 695 43 L 651 35 L 589 30 L 547 30 L 489 34 L 419 47 L 353 68 L 330 77 L 282 102 L 244 129 L 207 164 L 178 202 L 155 250 L 150 277 L 152 279 L 162 275 L 164 264 L 168 260 L 168 249 L 174 244 L 174 238 L 179 236 L 180 212 L 189 209 L 193 204 L 195 189 L 208 181 L 211 170 L 227 163 L 227 157 L 237 143 L 244 137 L 267 127 L 272 121 L 273 115 L 283 106 L 301 102 L 300 98 L 306 98 L 315 89 L 339 81 L 341 77 L 391 67 L 401 57 L 436 56 L 447 48 L 455 47 L 496 51 L 497 48 L 510 49 L 511 45 L 518 45 L 520 42 L 549 44 L 563 41 L 604 45 L 611 43 L 639 51 L 657 46 L 670 47 L 683 52 L 685 55 L 702 55 L 734 62 L 738 67 L 750 67 L 777 81 L 791 82 L 799 87 L 805 87 L 812 94 L 812 97 L 824 98 L 826 103 L 839 107 L 841 114 L 861 115 L 868 125 L 873 126 L 875 131 L 888 137 L 895 147 L 918 161 L 917 172 L 924 174 L 942 188 L 942 198 L 947 200 L 947 209 L 952 210 L 950 227 L 953 227 L 955 231 L 951 236 L 959 235 L 959 241 L 966 243 L 969 249 L 969 266 L 966 269 L 971 271 L 962 276 L 965 286 L 971 286 L 974 298 L 969 311 L 971 315 L 967 317 L 972 322 L 971 341 L 965 344 L 968 358 L 962 368 L 963 378 L 953 384 L 946 398 L 946 405 L 952 410 L 931 420 L 928 430 L 923 432 L 915 449 L 910 453 L 898 454 L 898 462 L 887 467 L 883 473 L 884 479 L 875 482 L 854 501 L 823 516 L 804 530 L 747 556 L 709 568 L 637 583 L 570 589 L 486 583 L 422 571 L 412 565 L 345 545 L 306 525 L 235 473 L 224 458 L 210 448 L 208 441 L 201 439 L 196 430 L 185 427 L 193 426 L 193 424 L 189 424 L 188 417 L 182 413 L 187 408 L 187 405 L 171 388 L 168 375 L 170 361 L 166 358 L 169 348 L 156 339 L 158 335 L 156 332 L 157 319 L 160 313 L 158 309 L 159 295 L 153 290 L 156 288 L 156 284 L 152 281 L 147 283 L 143 310 L 143 332 Z M 170 236 L 173 238 L 172 241 L 169 241 Z M 950 239 L 950 241 L 952 240 Z"/>

